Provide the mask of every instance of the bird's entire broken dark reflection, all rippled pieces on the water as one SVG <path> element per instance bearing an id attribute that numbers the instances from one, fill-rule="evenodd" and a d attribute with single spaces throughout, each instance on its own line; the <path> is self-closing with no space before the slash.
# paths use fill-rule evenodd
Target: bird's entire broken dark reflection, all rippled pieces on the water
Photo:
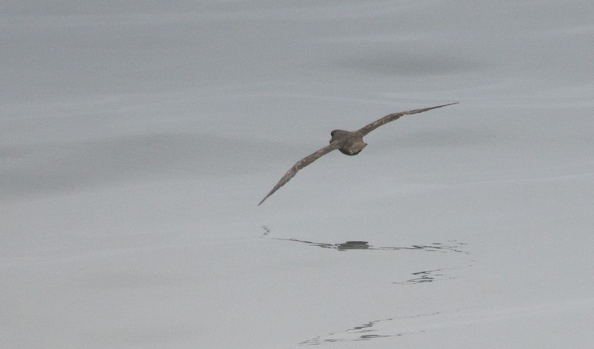
<path id="1" fill-rule="evenodd" d="M 272 238 L 270 236 L 270 228 L 268 226 L 262 226 L 264 229 L 263 235 L 261 238 L 266 239 L 274 239 L 274 240 L 283 240 L 283 241 L 293 241 L 293 242 L 301 242 L 302 244 L 308 244 L 311 246 L 318 246 L 321 248 L 328 248 L 328 249 L 336 249 L 337 251 L 350 251 L 350 250 L 381 250 L 381 251 L 397 251 L 397 250 L 417 250 L 417 251 L 426 251 L 426 252 L 441 252 L 441 253 L 461 253 L 461 254 L 469 254 L 469 252 L 465 251 L 466 244 L 463 242 L 458 242 L 455 240 L 447 241 L 445 244 L 440 242 L 435 242 L 429 245 L 411 245 L 411 246 L 374 246 L 369 245 L 369 242 L 366 241 L 346 241 L 340 242 L 338 244 L 329 244 L 326 242 L 313 242 L 313 241 L 305 241 L 299 239 L 284 239 L 284 238 Z M 451 267 L 451 268 L 438 268 L 434 270 L 424 270 L 418 271 L 416 273 L 411 273 L 413 278 L 410 278 L 405 281 L 394 281 L 393 284 L 399 285 L 415 285 L 415 284 L 422 284 L 422 283 L 431 283 L 432 281 L 438 280 L 453 280 L 456 277 L 447 276 L 445 274 L 445 270 L 455 270 L 460 268 L 472 267 L 472 262 L 469 261 L 470 264 L 461 265 L 459 267 Z M 456 310 L 457 311 L 457 310 Z M 411 335 L 411 334 L 422 334 L 425 331 L 419 329 L 418 331 L 414 332 L 383 332 L 379 329 L 375 329 L 376 325 L 385 322 L 398 322 L 398 321 L 406 321 L 406 319 L 412 318 L 419 318 L 422 316 L 436 316 L 442 312 L 434 312 L 428 314 L 421 314 L 421 315 L 412 315 L 412 316 L 404 316 L 404 317 L 394 317 L 388 319 L 380 319 L 375 321 L 369 321 L 362 325 L 353 326 L 352 328 L 331 332 L 325 335 L 319 335 L 315 338 L 311 338 L 310 340 L 303 341 L 298 343 L 297 345 L 318 345 L 318 344 L 328 344 L 328 343 L 335 343 L 335 342 L 349 342 L 349 341 L 365 341 L 365 340 L 372 340 L 375 338 L 384 338 L 384 337 L 400 337 L 403 335 Z M 372 333 L 377 332 L 377 333 Z"/>

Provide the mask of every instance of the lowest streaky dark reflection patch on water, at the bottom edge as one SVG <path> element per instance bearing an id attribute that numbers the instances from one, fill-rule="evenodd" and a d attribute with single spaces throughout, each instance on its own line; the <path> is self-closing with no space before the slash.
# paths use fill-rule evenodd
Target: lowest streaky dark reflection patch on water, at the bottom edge
<path id="1" fill-rule="evenodd" d="M 319 344 L 336 343 L 336 342 L 366 341 L 366 340 L 372 340 L 374 338 L 400 337 L 400 336 L 408 335 L 408 334 L 424 333 L 425 331 L 423 331 L 423 330 L 419 330 L 416 332 L 398 332 L 398 331 L 391 330 L 390 332 L 393 332 L 393 333 L 388 333 L 388 334 L 385 334 L 385 333 L 384 334 L 380 334 L 380 333 L 374 334 L 374 333 L 370 333 L 370 332 L 382 331 L 381 329 L 374 328 L 374 326 L 376 326 L 380 323 L 397 322 L 400 320 L 420 318 L 422 316 L 434 316 L 434 315 L 438 315 L 440 313 L 442 313 L 442 312 L 405 316 L 402 318 L 389 318 L 389 319 L 369 321 L 366 324 L 358 325 L 353 328 L 346 329 L 345 331 L 331 332 L 326 335 L 320 335 L 318 337 L 312 338 L 311 340 L 303 341 L 303 342 L 299 343 L 298 345 L 319 345 Z M 382 325 L 387 325 L 387 326 L 384 326 L 383 328 L 392 329 L 397 324 L 394 324 L 394 325 L 382 324 Z M 384 331 L 385 330 L 383 330 L 383 332 Z"/>

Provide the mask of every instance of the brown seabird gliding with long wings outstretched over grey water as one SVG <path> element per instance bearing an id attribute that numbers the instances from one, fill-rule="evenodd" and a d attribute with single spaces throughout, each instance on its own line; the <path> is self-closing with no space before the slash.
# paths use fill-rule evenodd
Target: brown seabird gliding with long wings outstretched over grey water
<path id="1" fill-rule="evenodd" d="M 306 156 L 305 158 L 296 162 L 296 164 L 293 165 L 293 167 L 290 168 L 289 171 L 287 171 L 287 173 L 285 175 L 283 175 L 282 178 L 280 178 L 280 181 L 276 185 L 274 185 L 274 188 L 272 188 L 270 193 L 268 193 L 262 199 L 262 201 L 260 201 L 258 206 L 260 206 L 264 202 L 264 200 L 266 200 L 275 191 L 279 190 L 280 187 L 285 185 L 291 178 L 293 178 L 297 174 L 297 171 L 306 167 L 307 165 L 311 164 L 312 162 L 316 161 L 317 159 L 321 158 L 321 156 L 326 155 L 327 153 L 329 153 L 331 151 L 335 151 L 336 149 L 338 149 L 341 153 L 346 154 L 346 155 L 357 155 L 367 145 L 367 143 L 363 142 L 363 137 L 366 136 L 369 132 L 377 129 L 378 127 L 380 127 L 384 124 L 387 124 L 390 121 L 394 121 L 403 115 L 418 114 L 418 113 L 422 113 L 424 111 L 428 111 L 428 110 L 435 109 L 435 108 L 441 108 L 441 107 L 445 107 L 446 105 L 452 105 L 452 104 L 458 104 L 458 102 L 437 105 L 437 107 L 415 109 L 415 110 L 409 110 L 409 111 L 402 111 L 400 113 L 389 114 L 379 120 L 375 120 L 374 122 L 365 125 L 361 129 L 353 131 L 353 132 L 345 131 L 345 130 L 332 131 L 330 133 L 330 136 L 331 136 L 330 145 L 327 145 L 324 148 L 318 149 L 316 152 L 312 153 L 311 155 Z"/>

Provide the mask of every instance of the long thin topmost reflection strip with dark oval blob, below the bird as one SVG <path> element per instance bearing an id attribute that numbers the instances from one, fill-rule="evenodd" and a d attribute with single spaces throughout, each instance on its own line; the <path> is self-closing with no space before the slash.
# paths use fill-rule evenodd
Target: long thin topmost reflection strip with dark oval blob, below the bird
<path id="1" fill-rule="evenodd" d="M 302 242 L 304 244 L 318 246 L 321 248 L 331 248 L 337 249 L 338 251 L 347 251 L 349 249 L 384 249 L 384 250 L 397 250 L 397 249 L 419 249 L 427 252 L 461 252 L 467 254 L 468 252 L 462 251 L 462 248 L 466 245 L 463 242 L 457 242 L 456 240 L 450 240 L 447 244 L 441 244 L 439 242 L 435 242 L 431 245 L 412 245 L 412 246 L 373 246 L 369 245 L 369 242 L 366 241 L 346 241 L 341 242 L 339 244 L 328 244 L 327 242 L 313 242 L 313 241 L 305 241 L 299 239 L 283 239 L 283 238 L 270 238 L 268 235 L 270 234 L 270 228 L 267 226 L 262 226 L 264 229 L 263 237 L 267 239 L 274 239 L 274 240 L 284 240 L 284 241 L 295 241 L 295 242 Z"/>

